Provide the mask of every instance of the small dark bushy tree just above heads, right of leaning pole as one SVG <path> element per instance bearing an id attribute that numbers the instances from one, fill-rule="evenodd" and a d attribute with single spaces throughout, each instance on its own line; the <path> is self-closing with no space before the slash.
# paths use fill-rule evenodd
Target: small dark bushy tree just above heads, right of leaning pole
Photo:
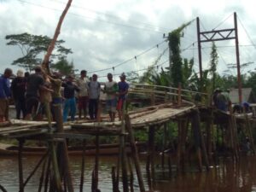
<path id="1" fill-rule="evenodd" d="M 66 59 L 63 58 L 60 61 L 57 61 L 55 64 L 51 64 L 50 67 L 54 68 L 65 76 L 73 74 L 74 72 L 73 62 L 69 63 Z"/>

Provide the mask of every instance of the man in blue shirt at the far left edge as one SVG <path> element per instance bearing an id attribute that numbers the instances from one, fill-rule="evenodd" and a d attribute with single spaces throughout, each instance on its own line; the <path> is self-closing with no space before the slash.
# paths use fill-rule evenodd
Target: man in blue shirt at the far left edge
<path id="1" fill-rule="evenodd" d="M 0 122 L 9 120 L 9 98 L 11 96 L 9 77 L 12 73 L 10 68 L 6 68 L 0 77 Z"/>

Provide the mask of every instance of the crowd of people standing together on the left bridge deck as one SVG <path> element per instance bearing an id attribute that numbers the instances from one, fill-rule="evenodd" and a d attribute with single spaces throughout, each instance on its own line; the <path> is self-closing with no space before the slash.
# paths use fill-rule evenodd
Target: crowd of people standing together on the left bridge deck
<path id="1" fill-rule="evenodd" d="M 53 106 L 63 107 L 63 121 L 68 116 L 73 121 L 79 109 L 79 119 L 87 118 L 87 111 L 92 120 L 96 120 L 101 91 L 106 94 L 106 110 L 110 121 L 114 121 L 118 111 L 119 119 L 122 119 L 122 109 L 125 103 L 129 84 L 125 82 L 125 73 L 120 75 L 119 83 L 113 80 L 113 75 L 108 73 L 108 81 L 102 86 L 97 81 L 97 75 L 86 78 L 87 72 L 82 70 L 79 79 L 68 75 L 65 80 L 59 73 L 47 74 L 41 67 L 35 67 L 32 74 L 18 70 L 15 79 L 10 82 L 12 70 L 5 69 L 0 77 L 0 122 L 9 120 L 9 100 L 15 101 L 16 119 L 42 118 L 44 114 L 49 123 L 54 119 Z M 63 87 L 63 92 L 61 91 Z M 62 92 L 62 93 L 61 93 Z M 78 103 L 78 104 L 77 104 Z"/>

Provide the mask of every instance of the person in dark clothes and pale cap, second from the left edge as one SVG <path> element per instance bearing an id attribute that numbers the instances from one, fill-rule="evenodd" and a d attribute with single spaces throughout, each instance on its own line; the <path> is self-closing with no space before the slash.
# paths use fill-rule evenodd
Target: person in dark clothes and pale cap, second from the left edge
<path id="1" fill-rule="evenodd" d="M 20 112 L 22 112 L 22 118 L 26 116 L 26 80 L 22 70 L 17 71 L 17 77 L 12 81 L 11 84 L 12 96 L 15 100 L 16 119 L 20 119 Z"/>

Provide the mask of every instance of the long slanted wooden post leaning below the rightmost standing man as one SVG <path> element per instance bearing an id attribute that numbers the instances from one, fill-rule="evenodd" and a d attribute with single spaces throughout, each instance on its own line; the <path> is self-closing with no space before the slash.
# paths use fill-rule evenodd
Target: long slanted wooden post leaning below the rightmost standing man
<path id="1" fill-rule="evenodd" d="M 144 187 L 144 183 L 143 183 L 143 176 L 142 176 L 142 172 L 141 172 L 140 161 L 139 161 L 139 157 L 138 157 L 138 153 L 137 153 L 137 146 L 136 146 L 136 142 L 135 142 L 135 138 L 134 138 L 134 133 L 131 128 L 131 119 L 128 114 L 125 114 L 125 126 L 126 126 L 126 130 L 129 133 L 129 142 L 131 145 L 131 152 L 132 152 L 131 156 L 134 161 L 135 169 L 137 172 L 137 179 L 138 179 L 140 191 L 144 192 L 145 187 Z"/>

